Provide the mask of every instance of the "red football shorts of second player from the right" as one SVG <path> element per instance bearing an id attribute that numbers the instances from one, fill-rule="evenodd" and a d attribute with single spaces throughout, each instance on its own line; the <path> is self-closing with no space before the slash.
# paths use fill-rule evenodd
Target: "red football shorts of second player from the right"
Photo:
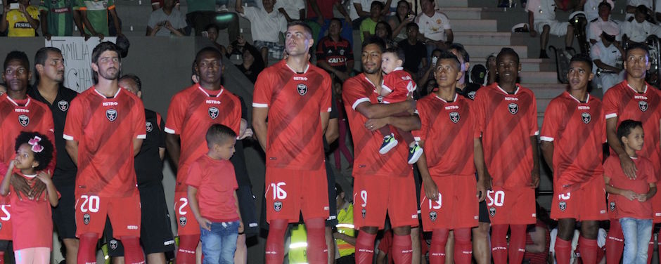
<path id="1" fill-rule="evenodd" d="M 606 220 L 606 203 L 603 176 L 598 175 L 578 190 L 553 192 L 551 218 L 575 218 L 583 220 Z"/>

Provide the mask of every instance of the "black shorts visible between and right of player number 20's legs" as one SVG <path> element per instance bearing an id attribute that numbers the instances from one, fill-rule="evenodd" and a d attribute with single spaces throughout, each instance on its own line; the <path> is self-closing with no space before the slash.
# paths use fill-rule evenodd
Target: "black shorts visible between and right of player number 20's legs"
<path id="1" fill-rule="evenodd" d="M 163 185 L 138 187 L 141 204 L 140 244 L 145 254 L 174 251 L 174 236 L 165 202 Z M 105 237 L 113 237 L 110 220 L 105 221 Z M 119 239 L 108 239 L 108 256 L 124 256 Z"/>

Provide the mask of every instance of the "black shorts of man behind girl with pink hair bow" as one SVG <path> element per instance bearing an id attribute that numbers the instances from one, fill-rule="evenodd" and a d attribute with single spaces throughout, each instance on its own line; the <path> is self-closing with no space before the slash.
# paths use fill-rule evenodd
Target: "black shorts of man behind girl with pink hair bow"
<path id="1" fill-rule="evenodd" d="M 53 207 L 53 223 L 60 239 L 76 238 L 76 184 L 56 183 L 60 202 Z"/>

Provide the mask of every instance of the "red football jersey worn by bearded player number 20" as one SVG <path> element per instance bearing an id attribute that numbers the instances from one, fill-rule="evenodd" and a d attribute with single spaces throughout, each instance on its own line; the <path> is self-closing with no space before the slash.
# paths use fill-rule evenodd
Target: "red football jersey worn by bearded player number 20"
<path id="1" fill-rule="evenodd" d="M 145 107 L 120 88 L 113 98 L 94 86 L 71 101 L 63 138 L 78 142 L 77 193 L 127 197 L 136 191 L 133 140 L 146 138 Z"/>

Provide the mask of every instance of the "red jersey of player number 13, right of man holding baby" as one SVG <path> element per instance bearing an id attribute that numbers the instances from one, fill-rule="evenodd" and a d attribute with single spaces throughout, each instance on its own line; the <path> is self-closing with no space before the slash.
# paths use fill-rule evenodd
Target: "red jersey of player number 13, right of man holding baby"
<path id="1" fill-rule="evenodd" d="M 413 136 L 425 142 L 425 155 L 431 176 L 473 176 L 475 117 L 470 100 L 455 94 L 447 102 L 435 93 L 418 100 L 421 128 Z M 450 136 L 451 135 L 451 136 Z"/>

